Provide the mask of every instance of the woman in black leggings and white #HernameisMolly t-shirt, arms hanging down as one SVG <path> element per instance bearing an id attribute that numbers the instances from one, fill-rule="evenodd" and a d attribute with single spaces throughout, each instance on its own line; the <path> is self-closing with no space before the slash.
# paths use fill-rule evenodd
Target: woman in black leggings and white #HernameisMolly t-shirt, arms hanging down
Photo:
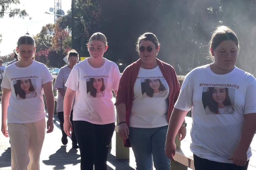
<path id="1" fill-rule="evenodd" d="M 74 66 L 66 83 L 64 131 L 71 136 L 70 131 L 75 130 L 82 170 L 107 169 L 108 148 L 116 122 L 112 90 L 116 93 L 120 79 L 117 65 L 103 58 L 107 49 L 105 35 L 94 33 L 88 43 L 90 57 Z M 104 96 L 87 96 L 90 78 L 104 78 Z M 69 116 L 75 95 L 72 127 Z"/>

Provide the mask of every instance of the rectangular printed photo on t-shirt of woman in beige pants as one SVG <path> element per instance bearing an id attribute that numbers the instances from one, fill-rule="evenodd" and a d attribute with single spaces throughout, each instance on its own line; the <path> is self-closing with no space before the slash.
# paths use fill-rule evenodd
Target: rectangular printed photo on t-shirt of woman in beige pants
<path id="1" fill-rule="evenodd" d="M 37 96 L 36 79 L 14 80 L 13 86 L 17 100 L 35 98 Z"/>

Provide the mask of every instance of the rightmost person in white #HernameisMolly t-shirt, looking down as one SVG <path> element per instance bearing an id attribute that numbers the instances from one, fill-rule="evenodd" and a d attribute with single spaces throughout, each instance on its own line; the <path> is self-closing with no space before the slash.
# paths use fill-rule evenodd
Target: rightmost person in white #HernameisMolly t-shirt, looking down
<path id="1" fill-rule="evenodd" d="M 214 62 L 193 69 L 185 78 L 173 110 L 167 139 L 166 155 L 175 155 L 175 136 L 187 112 L 192 108 L 192 143 L 196 170 L 246 170 L 252 156 L 250 144 L 256 129 L 256 80 L 235 66 L 239 43 L 226 26 L 217 27 L 209 43 Z M 202 94 L 208 87 L 234 90 L 233 114 L 206 114 Z"/>

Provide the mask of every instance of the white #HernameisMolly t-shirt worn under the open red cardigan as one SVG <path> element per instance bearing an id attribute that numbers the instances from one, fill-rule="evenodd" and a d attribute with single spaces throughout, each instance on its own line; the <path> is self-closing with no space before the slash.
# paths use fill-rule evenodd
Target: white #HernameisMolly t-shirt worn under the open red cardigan
<path id="1" fill-rule="evenodd" d="M 140 68 L 134 84 L 130 127 L 155 128 L 168 125 L 169 86 L 159 68 Z"/>

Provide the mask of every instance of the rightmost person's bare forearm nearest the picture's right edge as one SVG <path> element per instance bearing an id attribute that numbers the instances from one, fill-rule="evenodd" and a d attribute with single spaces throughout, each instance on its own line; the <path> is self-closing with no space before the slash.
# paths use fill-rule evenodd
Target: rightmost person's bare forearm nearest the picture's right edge
<path id="1" fill-rule="evenodd" d="M 252 139 L 255 135 L 256 130 L 256 113 L 246 114 L 244 115 L 244 127 L 242 130 L 242 136 L 240 143 L 238 145 L 238 149 L 247 151 Z"/>

